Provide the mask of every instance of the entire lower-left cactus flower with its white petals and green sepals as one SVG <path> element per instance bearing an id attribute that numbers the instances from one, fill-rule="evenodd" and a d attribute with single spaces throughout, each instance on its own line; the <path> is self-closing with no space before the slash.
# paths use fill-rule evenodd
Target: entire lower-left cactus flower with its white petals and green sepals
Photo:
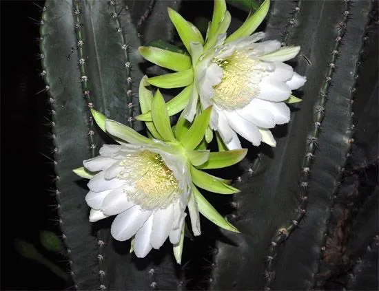
<path id="1" fill-rule="evenodd" d="M 229 224 L 205 200 L 196 186 L 220 194 L 237 193 L 227 180 L 203 172 L 236 164 L 247 151 L 210 153 L 201 147 L 212 107 L 196 117 L 190 127 L 178 122 L 170 127 L 163 96 L 152 96 L 146 77 L 141 80 L 141 110 L 152 112 L 146 122 L 152 138 L 141 136 L 130 127 L 105 118 L 92 109 L 92 116 L 103 131 L 119 144 L 105 144 L 99 156 L 83 162 L 75 169 L 77 175 L 90 179 L 85 197 L 91 207 L 90 222 L 117 215 L 112 223 L 114 239 L 132 239 L 137 257 L 145 257 L 152 248 L 160 248 L 167 237 L 173 244 L 178 263 L 184 241 L 185 208 L 188 207 L 194 235 L 201 235 L 202 213 L 209 220 L 230 231 Z"/>

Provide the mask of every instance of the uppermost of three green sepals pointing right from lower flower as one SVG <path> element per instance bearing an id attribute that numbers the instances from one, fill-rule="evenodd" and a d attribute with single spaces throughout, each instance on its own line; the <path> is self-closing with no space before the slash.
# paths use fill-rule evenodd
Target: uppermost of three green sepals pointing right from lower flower
<path id="1" fill-rule="evenodd" d="M 197 169 L 220 169 L 227 166 L 232 166 L 240 162 L 247 154 L 247 149 L 233 149 L 232 151 L 219 151 L 209 153 L 209 160 L 200 166 L 196 166 Z"/>

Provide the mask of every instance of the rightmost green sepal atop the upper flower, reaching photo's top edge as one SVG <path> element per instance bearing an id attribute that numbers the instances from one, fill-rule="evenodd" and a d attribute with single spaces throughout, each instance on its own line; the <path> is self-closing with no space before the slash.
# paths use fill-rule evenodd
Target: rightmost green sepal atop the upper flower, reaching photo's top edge
<path id="1" fill-rule="evenodd" d="M 247 37 L 252 34 L 256 28 L 258 28 L 260 23 L 262 23 L 263 19 L 265 19 L 267 12 L 269 12 L 269 4 L 270 1 L 265 0 L 260 8 L 258 8 L 258 10 L 252 14 L 252 16 L 247 18 L 243 25 L 238 28 L 238 30 L 233 32 L 229 37 L 227 37 L 227 39 L 225 39 L 225 43 L 230 43 L 231 41 L 240 39 L 242 37 Z"/>

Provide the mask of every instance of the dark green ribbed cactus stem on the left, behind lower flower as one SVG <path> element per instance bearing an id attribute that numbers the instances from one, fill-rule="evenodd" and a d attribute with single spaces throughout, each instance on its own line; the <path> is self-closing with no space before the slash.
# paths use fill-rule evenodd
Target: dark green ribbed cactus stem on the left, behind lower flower
<path id="1" fill-rule="evenodd" d="M 143 128 L 141 122 L 134 122 L 143 76 L 138 47 L 143 45 L 141 39 L 152 41 L 153 36 L 170 41 L 173 30 L 167 6 L 176 9 L 179 3 L 45 2 L 40 30 L 41 75 L 52 107 L 54 181 L 60 206 L 57 220 L 70 257 L 70 274 L 80 290 L 147 290 L 152 282 L 146 280 L 145 268 L 153 265 L 165 274 L 163 279 L 154 278 L 160 288 L 177 283 L 174 261 L 167 255 L 171 249 L 162 250 L 155 263 L 151 257 L 146 259 L 145 267 L 140 268 L 133 255 L 125 258 L 130 248 L 127 242 L 115 246 L 110 235 L 112 218 L 94 224 L 88 221 L 87 180 L 81 180 L 73 170 L 81 171 L 83 160 L 96 155 L 105 139 L 111 141 L 94 122 L 90 108 L 136 131 Z M 149 15 L 155 23 L 148 21 Z M 168 24 L 161 23 L 162 19 Z M 145 29 L 148 33 L 140 37 L 138 32 L 143 34 Z"/>

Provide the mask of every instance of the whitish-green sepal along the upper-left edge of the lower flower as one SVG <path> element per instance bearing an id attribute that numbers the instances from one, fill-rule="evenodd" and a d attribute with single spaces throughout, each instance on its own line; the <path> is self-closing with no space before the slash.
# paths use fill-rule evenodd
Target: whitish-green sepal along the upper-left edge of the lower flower
<path id="1" fill-rule="evenodd" d="M 119 138 L 124 142 L 130 142 L 131 144 L 155 144 L 150 138 L 146 138 L 134 129 L 114 120 L 106 119 L 105 129 L 107 130 L 107 133 L 116 136 L 116 138 Z"/>

